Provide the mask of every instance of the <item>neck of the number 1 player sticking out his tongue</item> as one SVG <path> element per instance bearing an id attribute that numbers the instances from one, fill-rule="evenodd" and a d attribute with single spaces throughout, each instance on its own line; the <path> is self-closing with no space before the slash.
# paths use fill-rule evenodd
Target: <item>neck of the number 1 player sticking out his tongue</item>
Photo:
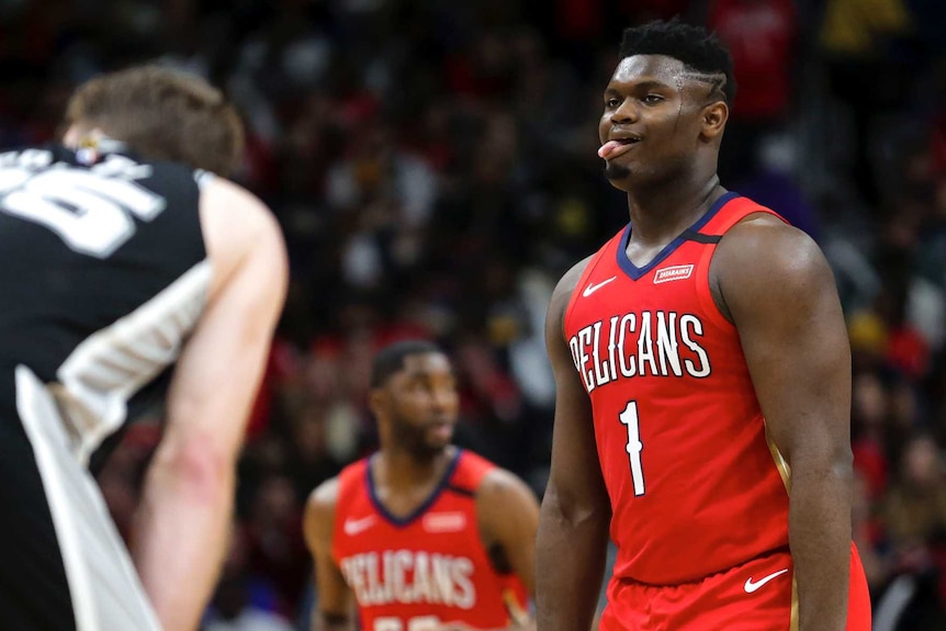
<path id="1" fill-rule="evenodd" d="M 724 193 L 716 173 L 696 181 L 683 179 L 671 185 L 629 191 L 631 239 L 663 245 L 691 226 Z"/>

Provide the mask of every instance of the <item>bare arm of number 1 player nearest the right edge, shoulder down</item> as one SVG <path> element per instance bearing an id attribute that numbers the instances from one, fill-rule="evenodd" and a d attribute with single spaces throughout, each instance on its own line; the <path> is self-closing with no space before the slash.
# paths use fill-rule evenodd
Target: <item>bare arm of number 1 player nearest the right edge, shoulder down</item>
<path id="1" fill-rule="evenodd" d="M 774 217 L 735 226 L 712 268 L 791 471 L 799 629 L 841 631 L 851 561 L 851 351 L 833 274 L 811 238 Z"/>

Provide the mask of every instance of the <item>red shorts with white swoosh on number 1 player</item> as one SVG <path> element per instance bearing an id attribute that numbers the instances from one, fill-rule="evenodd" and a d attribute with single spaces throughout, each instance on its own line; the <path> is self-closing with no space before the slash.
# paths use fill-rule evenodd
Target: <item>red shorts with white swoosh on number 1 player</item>
<path id="1" fill-rule="evenodd" d="M 852 544 L 847 631 L 870 631 L 870 597 Z M 798 600 L 788 551 L 684 585 L 612 579 L 601 631 L 796 631 Z"/>

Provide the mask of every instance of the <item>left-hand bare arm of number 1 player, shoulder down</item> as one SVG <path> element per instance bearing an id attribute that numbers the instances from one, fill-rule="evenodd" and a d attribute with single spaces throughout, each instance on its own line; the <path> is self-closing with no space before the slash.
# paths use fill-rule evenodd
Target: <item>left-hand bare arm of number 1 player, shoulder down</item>
<path id="1" fill-rule="evenodd" d="M 556 393 L 552 465 L 536 542 L 536 607 L 542 631 L 590 628 L 611 518 L 595 447 L 590 401 L 562 327 L 585 264 L 583 261 L 559 282 L 545 318 L 547 352 Z"/>

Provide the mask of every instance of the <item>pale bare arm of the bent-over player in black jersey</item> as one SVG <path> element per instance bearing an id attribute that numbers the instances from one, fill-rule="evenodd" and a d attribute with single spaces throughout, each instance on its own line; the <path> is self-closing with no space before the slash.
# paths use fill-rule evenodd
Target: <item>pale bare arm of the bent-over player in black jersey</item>
<path id="1" fill-rule="evenodd" d="M 201 223 L 210 297 L 174 369 L 132 553 L 161 626 L 196 628 L 224 556 L 235 463 L 285 295 L 282 235 L 236 184 L 207 184 Z M 225 229 L 224 229 L 225 228 Z"/>

